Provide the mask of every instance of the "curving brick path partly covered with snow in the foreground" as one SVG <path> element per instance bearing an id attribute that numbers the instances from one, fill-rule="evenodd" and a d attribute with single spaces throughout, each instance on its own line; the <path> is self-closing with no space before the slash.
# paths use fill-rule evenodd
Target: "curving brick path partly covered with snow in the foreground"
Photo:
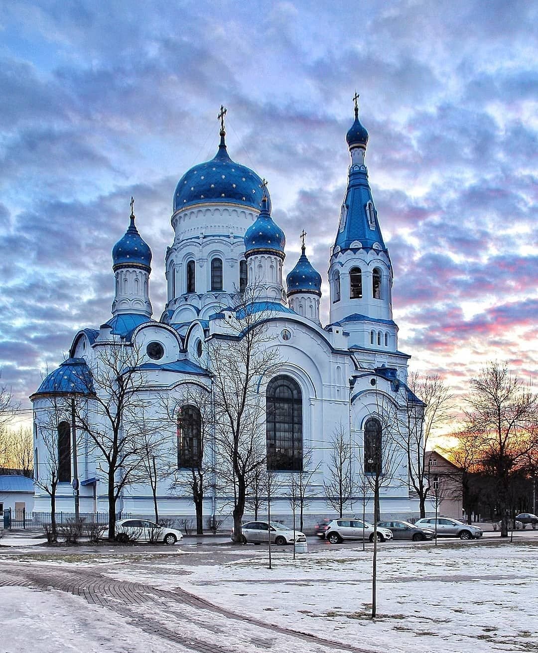
<path id="1" fill-rule="evenodd" d="M 252 653 L 256 649 L 289 650 L 293 649 L 294 641 L 297 640 L 310 643 L 311 650 L 320 653 L 335 649 L 349 653 L 372 652 L 371 648 L 365 650 L 342 645 L 329 639 L 236 614 L 180 588 L 171 592 L 149 584 L 116 581 L 87 568 L 67 570 L 5 561 L 0 569 L 0 586 L 23 586 L 37 590 L 54 588 L 69 592 L 86 599 L 88 603 L 101 605 L 121 614 L 131 625 L 146 633 L 157 635 L 197 653 Z M 176 622 L 172 624 L 176 626 L 179 622 L 181 627 L 173 628 L 170 622 Z M 236 634 L 237 622 L 240 622 L 241 628 Z M 193 624 L 196 628 L 193 628 Z M 193 635 L 189 634 L 189 629 Z M 208 635 L 207 639 L 204 638 L 204 632 Z M 222 635 L 222 645 L 215 644 L 215 633 Z M 244 641 L 233 645 L 230 640 L 234 639 Z"/>

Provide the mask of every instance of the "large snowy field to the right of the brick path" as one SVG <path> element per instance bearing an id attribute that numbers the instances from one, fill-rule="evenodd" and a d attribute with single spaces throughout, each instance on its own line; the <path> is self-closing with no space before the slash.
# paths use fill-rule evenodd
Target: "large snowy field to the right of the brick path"
<path id="1" fill-rule="evenodd" d="M 221 565 L 185 568 L 170 560 L 165 569 L 152 565 L 151 583 L 180 586 L 237 613 L 372 650 L 529 651 L 538 650 L 536 544 L 381 546 L 373 622 L 372 549 L 363 552 L 362 545 L 295 561 L 290 552 L 277 552 L 271 570 L 259 549 Z M 114 577 L 131 581 L 144 575 L 129 565 L 114 570 Z"/>

